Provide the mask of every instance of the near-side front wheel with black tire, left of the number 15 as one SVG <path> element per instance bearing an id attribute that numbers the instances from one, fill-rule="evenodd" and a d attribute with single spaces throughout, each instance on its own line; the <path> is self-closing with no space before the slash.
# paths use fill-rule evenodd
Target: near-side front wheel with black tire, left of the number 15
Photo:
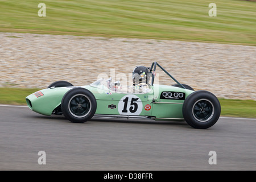
<path id="1" fill-rule="evenodd" d="M 73 88 L 63 96 L 61 111 L 73 123 L 84 123 L 96 112 L 97 102 L 93 93 L 84 88 Z"/>

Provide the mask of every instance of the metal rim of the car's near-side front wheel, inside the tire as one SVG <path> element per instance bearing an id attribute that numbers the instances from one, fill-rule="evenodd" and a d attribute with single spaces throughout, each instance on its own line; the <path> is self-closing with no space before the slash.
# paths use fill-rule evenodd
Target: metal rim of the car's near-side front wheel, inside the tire
<path id="1" fill-rule="evenodd" d="M 69 112 L 77 118 L 85 117 L 92 109 L 92 103 L 85 94 L 76 94 L 68 102 Z"/>

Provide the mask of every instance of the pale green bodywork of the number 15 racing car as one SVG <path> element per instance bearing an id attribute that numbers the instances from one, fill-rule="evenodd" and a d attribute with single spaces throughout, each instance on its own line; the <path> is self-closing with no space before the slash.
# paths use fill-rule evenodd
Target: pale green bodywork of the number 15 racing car
<path id="1" fill-rule="evenodd" d="M 182 92 L 185 94 L 185 98 L 194 92 L 168 85 L 154 85 L 148 93 L 119 93 L 90 85 L 79 87 L 88 89 L 94 94 L 97 101 L 96 114 L 141 115 L 154 116 L 156 118 L 183 118 L 182 104 L 153 103 L 153 101 L 184 102 L 184 100 L 160 99 L 162 92 Z M 76 86 L 48 88 L 40 90 L 39 93 L 32 93 L 26 97 L 27 105 L 37 113 L 51 115 L 52 111 L 60 106 L 64 94 L 72 88 L 76 88 Z"/>

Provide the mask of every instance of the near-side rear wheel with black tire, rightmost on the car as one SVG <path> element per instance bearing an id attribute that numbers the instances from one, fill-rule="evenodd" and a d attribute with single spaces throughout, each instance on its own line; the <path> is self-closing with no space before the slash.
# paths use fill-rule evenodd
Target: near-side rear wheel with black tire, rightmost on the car
<path id="1" fill-rule="evenodd" d="M 214 94 L 198 90 L 185 99 L 182 112 L 188 125 L 195 129 L 207 129 L 220 118 L 221 106 Z"/>

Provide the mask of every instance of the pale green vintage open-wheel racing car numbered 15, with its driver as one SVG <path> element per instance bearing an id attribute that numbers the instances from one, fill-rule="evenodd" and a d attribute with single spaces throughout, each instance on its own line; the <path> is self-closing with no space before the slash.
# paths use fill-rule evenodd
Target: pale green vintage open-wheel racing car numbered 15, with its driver
<path id="1" fill-rule="evenodd" d="M 154 84 L 156 67 L 176 84 Z M 137 66 L 132 78 L 131 86 L 111 78 L 100 78 L 85 86 L 56 81 L 27 96 L 26 102 L 36 113 L 63 114 L 74 123 L 84 123 L 92 117 L 132 118 L 186 121 L 193 128 L 207 129 L 220 117 L 220 102 L 214 94 L 180 84 L 157 62 L 151 67 Z"/>

